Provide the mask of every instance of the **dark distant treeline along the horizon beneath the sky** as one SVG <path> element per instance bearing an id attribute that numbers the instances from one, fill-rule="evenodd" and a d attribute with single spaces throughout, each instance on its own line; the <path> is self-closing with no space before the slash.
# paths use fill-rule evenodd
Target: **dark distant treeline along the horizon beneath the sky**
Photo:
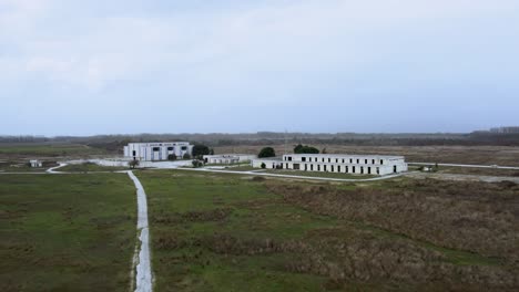
<path id="1" fill-rule="evenodd" d="M 519 146 L 519 133 L 474 132 L 469 134 L 357 134 L 357 133 L 275 133 L 254 134 L 140 134 L 140 135 L 98 135 L 89 137 L 41 137 L 41 136 L 0 136 L 1 144 L 85 144 L 109 150 L 119 150 L 130 142 L 186 140 L 207 146 L 233 145 L 281 145 L 288 144 L 335 144 L 360 146 L 429 146 L 429 145 L 496 145 Z"/>

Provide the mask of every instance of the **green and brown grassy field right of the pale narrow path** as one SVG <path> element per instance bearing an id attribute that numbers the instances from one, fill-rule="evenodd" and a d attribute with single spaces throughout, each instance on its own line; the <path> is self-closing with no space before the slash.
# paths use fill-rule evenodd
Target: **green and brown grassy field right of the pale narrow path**
<path id="1" fill-rule="evenodd" d="M 493 202 L 434 198 L 435 184 L 301 184 L 185 170 L 138 176 L 149 196 L 157 291 L 478 291 L 518 283 L 513 257 L 506 260 L 515 250 L 513 223 L 487 221 L 510 218 L 474 217 L 490 229 L 480 238 L 481 227 L 467 228 L 456 216 Z M 435 202 L 430 210 L 427 200 Z M 486 208 L 508 208 L 497 206 Z M 466 238 L 456 239 L 460 233 Z"/>

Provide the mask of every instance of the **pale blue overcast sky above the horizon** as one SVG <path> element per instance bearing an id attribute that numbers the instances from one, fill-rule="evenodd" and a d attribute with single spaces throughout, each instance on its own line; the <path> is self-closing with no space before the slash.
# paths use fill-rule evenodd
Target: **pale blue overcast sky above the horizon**
<path id="1" fill-rule="evenodd" d="M 0 0 L 0 134 L 519 124 L 518 0 Z"/>

